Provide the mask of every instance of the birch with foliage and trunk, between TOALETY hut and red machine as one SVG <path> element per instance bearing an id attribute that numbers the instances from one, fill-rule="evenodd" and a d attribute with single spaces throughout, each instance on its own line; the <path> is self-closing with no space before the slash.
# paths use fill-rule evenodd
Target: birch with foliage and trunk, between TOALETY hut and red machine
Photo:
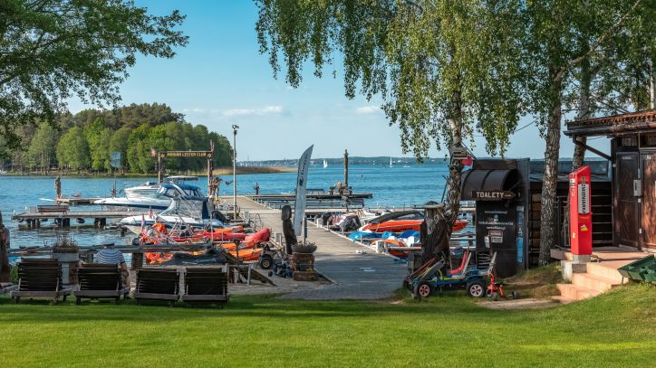
<path id="1" fill-rule="evenodd" d="M 637 30 L 631 30 L 630 25 L 644 6 L 653 5 L 653 0 L 552 1 L 527 2 L 522 10 L 526 33 L 518 42 L 524 45 L 526 107 L 535 116 L 546 143 L 540 213 L 541 264 L 550 261 L 550 250 L 555 245 L 555 193 L 566 91 L 577 85 L 589 89 L 592 76 L 576 80 L 576 72 L 590 73 L 595 59 L 616 55 L 624 48 L 620 46 L 622 42 L 638 37 Z M 647 26 L 654 25 L 652 18 Z M 622 42 L 617 42 L 622 38 Z M 629 60 L 623 56 L 621 59 Z M 602 69 L 613 70 L 613 61 Z"/>

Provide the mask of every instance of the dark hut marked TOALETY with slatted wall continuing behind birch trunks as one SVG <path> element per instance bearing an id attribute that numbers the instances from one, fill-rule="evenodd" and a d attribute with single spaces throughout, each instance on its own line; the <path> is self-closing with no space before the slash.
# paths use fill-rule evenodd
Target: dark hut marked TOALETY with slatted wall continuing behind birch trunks
<path id="1" fill-rule="evenodd" d="M 591 202 L 593 206 L 593 246 L 613 245 L 612 183 L 610 165 L 605 160 L 585 161 L 592 169 Z M 528 269 L 538 265 L 542 236 L 542 182 L 544 160 L 478 159 L 463 174 L 462 199 L 476 201 L 477 247 L 497 251 L 499 264 L 507 270 Z M 556 248 L 567 248 L 569 228 L 567 195 L 572 160 L 558 163 L 558 184 L 555 201 Z M 481 193 L 512 193 L 509 199 L 481 199 Z M 490 223 L 486 212 L 496 213 Z M 504 226 L 501 226 L 504 224 Z M 501 232 L 499 232 L 501 231 Z M 512 235 L 514 233 L 514 235 Z M 501 235 L 494 236 L 495 234 Z M 487 239 L 486 239 L 487 237 Z M 494 241 L 502 240 L 500 242 Z M 515 265 L 512 263 L 516 262 Z"/>

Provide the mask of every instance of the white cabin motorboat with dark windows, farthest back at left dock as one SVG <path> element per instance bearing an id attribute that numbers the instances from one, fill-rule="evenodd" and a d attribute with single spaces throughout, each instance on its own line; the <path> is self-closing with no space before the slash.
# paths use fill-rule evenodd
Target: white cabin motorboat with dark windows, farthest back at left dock
<path id="1" fill-rule="evenodd" d="M 145 188 L 145 185 L 140 187 Z M 133 187 L 132 189 L 137 189 Z M 140 189 L 137 189 L 141 191 Z M 102 198 L 94 202 L 105 207 L 110 208 L 137 208 L 137 209 L 152 209 L 152 210 L 165 210 L 169 208 L 171 199 L 176 197 L 199 197 L 202 198 L 203 194 L 200 193 L 200 188 L 191 184 L 174 184 L 165 183 L 159 184 L 155 194 L 144 195 L 145 191 L 141 191 L 136 197 L 118 197 L 118 198 Z"/>

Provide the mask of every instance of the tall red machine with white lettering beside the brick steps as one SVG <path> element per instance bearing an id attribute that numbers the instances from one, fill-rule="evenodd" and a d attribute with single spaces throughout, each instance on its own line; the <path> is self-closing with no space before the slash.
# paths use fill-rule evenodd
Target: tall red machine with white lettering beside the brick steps
<path id="1" fill-rule="evenodd" d="M 590 166 L 569 175 L 570 244 L 575 261 L 589 261 L 593 254 L 593 212 L 590 203 Z"/>

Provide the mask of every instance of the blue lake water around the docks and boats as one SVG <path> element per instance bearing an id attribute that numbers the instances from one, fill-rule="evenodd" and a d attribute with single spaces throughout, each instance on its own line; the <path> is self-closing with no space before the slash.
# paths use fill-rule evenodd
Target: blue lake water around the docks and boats
<path id="1" fill-rule="evenodd" d="M 323 168 L 314 166 L 310 170 L 308 188 L 323 188 L 333 186 L 342 180 L 343 169 L 338 166 Z M 357 193 L 373 193 L 373 198 L 367 201 L 367 206 L 387 205 L 393 207 L 409 206 L 410 204 L 439 201 L 449 175 L 449 168 L 443 164 L 426 165 L 352 165 L 349 170 L 349 184 Z M 222 176 L 231 181 L 232 176 Z M 260 193 L 290 193 L 294 191 L 296 173 L 237 175 L 238 193 L 254 193 L 255 184 L 260 185 Z M 118 230 L 97 230 L 92 224 L 72 224 L 70 230 L 60 230 L 53 222 L 44 222 L 40 229 L 25 229 L 18 222 L 11 220 L 14 212 L 24 212 L 28 207 L 37 204 L 49 204 L 45 201 L 54 198 L 54 176 L 0 176 L 0 210 L 5 225 L 11 231 L 12 248 L 19 246 L 35 246 L 44 243 L 52 244 L 58 234 L 70 233 L 80 245 L 101 244 L 104 241 L 115 241 L 117 244 L 129 243 L 133 235 L 121 237 Z M 147 178 L 119 178 L 118 188 L 139 185 Z M 155 181 L 156 177 L 152 179 Z M 113 178 L 62 178 L 64 195 L 79 193 L 84 197 L 109 196 L 114 184 Z M 207 192 L 207 178 L 200 178 L 198 186 Z M 232 184 L 222 184 L 219 194 L 232 194 Z M 52 202 L 50 202 L 52 204 Z M 77 207 L 73 211 L 93 207 Z"/>

